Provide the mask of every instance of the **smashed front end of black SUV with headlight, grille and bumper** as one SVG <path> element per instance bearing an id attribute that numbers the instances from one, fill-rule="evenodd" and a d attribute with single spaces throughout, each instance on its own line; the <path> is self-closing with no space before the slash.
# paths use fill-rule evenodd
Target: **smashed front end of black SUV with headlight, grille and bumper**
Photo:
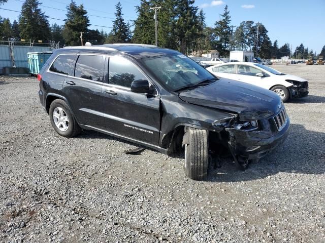
<path id="1" fill-rule="evenodd" d="M 225 134 L 226 146 L 241 169 L 246 169 L 249 160 L 262 158 L 282 144 L 288 135 L 289 125 L 283 105 L 276 114 L 268 111 L 258 114 L 245 112 L 212 123 L 216 131 Z"/>

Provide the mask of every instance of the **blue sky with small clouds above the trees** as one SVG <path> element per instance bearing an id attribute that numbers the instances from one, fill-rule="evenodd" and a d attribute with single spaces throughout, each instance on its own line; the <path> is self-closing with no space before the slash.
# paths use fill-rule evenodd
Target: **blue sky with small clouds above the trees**
<path id="1" fill-rule="evenodd" d="M 0 8 L 21 11 L 23 0 L 8 0 Z M 66 18 L 66 6 L 69 0 L 41 0 L 41 9 L 49 17 Z M 114 19 L 115 5 L 118 0 L 76 0 L 88 11 L 89 28 L 109 32 Z M 135 6 L 140 0 L 120 0 L 124 19 L 130 21 L 137 18 Z M 279 47 L 284 43 L 292 45 L 292 51 L 301 43 L 305 48 L 319 53 L 325 45 L 325 0 L 196 0 L 195 4 L 206 14 L 206 23 L 213 27 L 219 20 L 225 5 L 228 5 L 232 17 L 231 24 L 239 26 L 240 22 L 252 20 L 260 22 L 267 28 L 272 42 L 278 40 Z M 53 9 L 55 8 L 55 9 Z M 61 10 L 58 10 L 61 9 Z M 163 10 L 161 10 L 163 11 Z M 9 18 L 11 23 L 18 20 L 19 13 L 0 9 L 0 16 Z M 104 18 L 103 18 L 104 17 Z M 159 19 L 159 13 L 158 13 Z M 154 20 L 152 20 L 154 21 Z M 64 21 L 49 19 L 50 24 L 59 25 Z M 99 26 L 95 26 L 99 25 Z M 106 27 L 101 27 L 106 26 Z"/>

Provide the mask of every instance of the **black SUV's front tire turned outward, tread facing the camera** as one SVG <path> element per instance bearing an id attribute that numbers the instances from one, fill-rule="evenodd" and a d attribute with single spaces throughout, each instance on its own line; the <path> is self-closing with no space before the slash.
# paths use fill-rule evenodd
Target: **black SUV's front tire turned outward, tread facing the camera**
<path id="1" fill-rule="evenodd" d="M 185 175 L 192 180 L 205 180 L 209 168 L 208 131 L 188 128 L 183 137 Z"/>

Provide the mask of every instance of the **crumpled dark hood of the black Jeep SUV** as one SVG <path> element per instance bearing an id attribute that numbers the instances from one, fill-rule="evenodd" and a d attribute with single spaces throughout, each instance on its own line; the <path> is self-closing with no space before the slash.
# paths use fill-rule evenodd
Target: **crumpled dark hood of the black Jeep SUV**
<path id="1" fill-rule="evenodd" d="M 241 120 L 262 119 L 276 114 L 282 107 L 276 93 L 226 78 L 181 92 L 179 97 L 191 104 L 235 112 Z"/>

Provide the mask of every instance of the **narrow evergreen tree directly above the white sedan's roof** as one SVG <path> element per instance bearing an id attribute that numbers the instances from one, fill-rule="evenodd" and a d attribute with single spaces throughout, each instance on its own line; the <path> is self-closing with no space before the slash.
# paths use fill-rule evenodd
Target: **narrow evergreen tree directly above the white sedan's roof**
<path id="1" fill-rule="evenodd" d="M 228 11 L 228 5 L 224 7 L 223 14 L 220 15 L 221 19 L 215 22 L 215 35 L 217 37 L 216 46 L 221 56 L 228 55 L 230 37 L 231 37 L 231 17 Z"/>

